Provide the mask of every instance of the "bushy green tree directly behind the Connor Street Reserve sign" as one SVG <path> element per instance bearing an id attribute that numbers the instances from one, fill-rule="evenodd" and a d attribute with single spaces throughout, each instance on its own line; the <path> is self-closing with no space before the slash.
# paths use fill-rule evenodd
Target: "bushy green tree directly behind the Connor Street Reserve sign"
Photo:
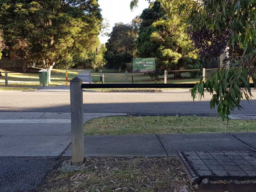
<path id="1" fill-rule="evenodd" d="M 161 7 L 160 1 L 155 1 L 141 14 L 140 33 L 137 39 L 138 55 L 140 57 L 156 57 L 158 69 L 179 70 L 186 65 L 188 59 L 195 59 L 192 41 L 186 33 L 181 19 L 168 15 Z M 175 73 L 175 77 L 180 73 Z"/>

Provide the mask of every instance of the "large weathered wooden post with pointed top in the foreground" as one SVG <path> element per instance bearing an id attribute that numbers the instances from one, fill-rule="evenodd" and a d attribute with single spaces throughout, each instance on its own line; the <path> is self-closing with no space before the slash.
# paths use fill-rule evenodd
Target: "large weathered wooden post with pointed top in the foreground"
<path id="1" fill-rule="evenodd" d="M 83 81 L 78 77 L 70 81 L 71 103 L 71 149 L 72 162 L 84 161 L 84 113 L 83 113 Z"/>

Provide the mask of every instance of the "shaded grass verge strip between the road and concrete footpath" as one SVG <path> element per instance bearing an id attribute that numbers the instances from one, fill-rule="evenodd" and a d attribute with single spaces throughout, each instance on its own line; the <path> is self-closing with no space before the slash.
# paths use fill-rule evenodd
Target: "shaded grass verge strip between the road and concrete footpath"
<path id="1" fill-rule="evenodd" d="M 84 125 L 84 135 L 185 134 L 256 132 L 255 120 L 229 120 L 195 116 L 113 116 L 93 119 Z"/>

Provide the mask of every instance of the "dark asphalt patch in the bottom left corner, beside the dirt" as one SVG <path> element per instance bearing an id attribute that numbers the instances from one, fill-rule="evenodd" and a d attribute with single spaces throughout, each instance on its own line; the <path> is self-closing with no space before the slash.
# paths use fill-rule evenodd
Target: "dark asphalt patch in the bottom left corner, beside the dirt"
<path id="1" fill-rule="evenodd" d="M 0 157 L 0 191 L 35 191 L 60 162 L 56 157 Z"/>

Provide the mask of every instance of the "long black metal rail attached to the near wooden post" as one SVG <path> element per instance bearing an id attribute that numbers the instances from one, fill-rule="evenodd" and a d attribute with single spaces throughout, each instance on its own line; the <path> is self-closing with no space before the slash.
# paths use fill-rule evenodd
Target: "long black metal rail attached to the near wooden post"
<path id="1" fill-rule="evenodd" d="M 193 88 L 194 83 L 169 83 L 169 84 L 82 84 L 82 89 L 111 89 L 111 88 Z M 254 84 L 250 84 L 254 88 Z"/>

